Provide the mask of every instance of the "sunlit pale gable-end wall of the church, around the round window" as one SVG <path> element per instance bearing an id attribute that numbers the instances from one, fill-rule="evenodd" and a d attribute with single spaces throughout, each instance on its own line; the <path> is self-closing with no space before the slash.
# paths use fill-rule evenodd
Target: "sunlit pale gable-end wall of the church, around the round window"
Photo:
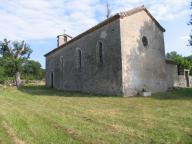
<path id="1" fill-rule="evenodd" d="M 124 95 L 136 95 L 143 89 L 166 91 L 163 32 L 144 11 L 121 19 L 120 27 Z M 143 36 L 148 46 L 143 45 Z"/>

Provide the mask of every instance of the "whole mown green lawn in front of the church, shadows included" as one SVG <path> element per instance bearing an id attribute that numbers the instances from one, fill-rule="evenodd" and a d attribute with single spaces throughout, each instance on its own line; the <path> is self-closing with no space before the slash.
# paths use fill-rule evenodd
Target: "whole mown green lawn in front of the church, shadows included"
<path id="1" fill-rule="evenodd" d="M 0 89 L 0 144 L 190 144 L 192 89 L 105 97 L 43 86 Z"/>

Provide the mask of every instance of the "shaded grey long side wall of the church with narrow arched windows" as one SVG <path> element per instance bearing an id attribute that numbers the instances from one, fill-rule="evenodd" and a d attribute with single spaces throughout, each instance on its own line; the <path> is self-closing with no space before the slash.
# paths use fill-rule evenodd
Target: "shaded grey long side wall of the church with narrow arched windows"
<path id="1" fill-rule="evenodd" d="M 103 64 L 98 63 L 99 41 L 103 43 Z M 46 85 L 51 86 L 53 72 L 56 89 L 122 95 L 120 46 L 120 22 L 117 19 L 48 55 Z M 78 50 L 82 53 L 81 68 Z"/>

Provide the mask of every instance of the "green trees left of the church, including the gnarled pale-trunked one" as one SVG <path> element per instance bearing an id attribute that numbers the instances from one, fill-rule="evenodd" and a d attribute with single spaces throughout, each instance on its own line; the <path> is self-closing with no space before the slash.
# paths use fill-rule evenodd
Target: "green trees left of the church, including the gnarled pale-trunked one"
<path id="1" fill-rule="evenodd" d="M 20 87 L 21 78 L 42 79 L 44 71 L 39 62 L 29 60 L 31 53 L 32 49 L 24 41 L 0 41 L 0 80 L 15 77 Z"/>

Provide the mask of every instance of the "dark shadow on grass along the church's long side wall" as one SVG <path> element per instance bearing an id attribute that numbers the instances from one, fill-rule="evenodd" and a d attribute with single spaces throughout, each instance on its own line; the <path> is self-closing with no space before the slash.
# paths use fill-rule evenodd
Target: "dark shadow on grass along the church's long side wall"
<path id="1" fill-rule="evenodd" d="M 30 94 L 32 96 L 62 96 L 62 97 L 99 97 L 99 98 L 106 98 L 106 97 L 120 97 L 120 96 L 107 96 L 107 95 L 96 95 L 91 93 L 84 93 L 78 91 L 63 91 L 63 90 L 56 90 L 47 88 L 43 85 L 27 85 L 23 86 L 19 89 L 21 92 Z"/>

